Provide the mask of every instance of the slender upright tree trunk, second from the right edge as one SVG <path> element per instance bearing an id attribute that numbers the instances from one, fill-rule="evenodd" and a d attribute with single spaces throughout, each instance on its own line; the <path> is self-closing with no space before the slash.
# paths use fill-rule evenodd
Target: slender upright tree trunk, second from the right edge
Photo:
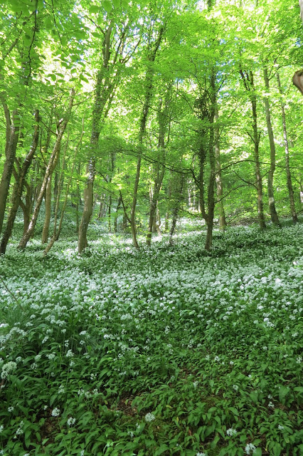
<path id="1" fill-rule="evenodd" d="M 263 76 L 265 82 L 265 88 L 267 93 L 270 92 L 270 81 L 268 79 L 267 68 L 263 68 Z M 279 218 L 277 216 L 277 211 L 275 207 L 275 198 L 274 198 L 274 173 L 276 167 L 276 150 L 275 150 L 275 140 L 274 135 L 272 133 L 272 121 L 270 118 L 270 102 L 268 97 L 264 97 L 264 105 L 265 105 L 265 114 L 266 114 L 266 125 L 267 125 L 267 133 L 268 138 L 270 140 L 270 171 L 268 172 L 268 181 L 267 181 L 267 193 L 268 193 L 268 202 L 270 206 L 270 218 L 272 219 L 272 223 L 275 225 L 280 225 Z"/>

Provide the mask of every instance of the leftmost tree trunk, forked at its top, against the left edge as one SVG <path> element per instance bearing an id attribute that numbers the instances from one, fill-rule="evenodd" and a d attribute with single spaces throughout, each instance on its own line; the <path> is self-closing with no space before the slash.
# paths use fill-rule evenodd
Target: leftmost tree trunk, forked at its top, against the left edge
<path id="1" fill-rule="evenodd" d="M 16 149 L 19 136 L 19 119 L 18 112 L 14 110 L 11 114 L 6 103 L 2 103 L 4 107 L 4 115 L 6 118 L 6 145 L 5 145 L 5 162 L 0 182 L 0 234 L 4 222 L 4 214 L 6 209 L 6 200 L 9 195 L 9 185 L 11 183 L 11 175 L 13 172 L 14 161 L 16 157 Z"/>

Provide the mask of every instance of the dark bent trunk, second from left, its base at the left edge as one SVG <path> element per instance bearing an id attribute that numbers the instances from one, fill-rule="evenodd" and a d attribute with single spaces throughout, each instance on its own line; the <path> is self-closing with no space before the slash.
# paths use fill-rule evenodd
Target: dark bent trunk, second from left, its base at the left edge
<path id="1" fill-rule="evenodd" d="M 18 179 L 16 180 L 16 184 L 14 185 L 13 195 L 11 197 L 11 210 L 9 212 L 9 218 L 6 223 L 6 228 L 5 228 L 3 237 L 1 239 L 0 254 L 5 254 L 5 252 L 6 252 L 6 247 L 9 242 L 9 238 L 11 237 L 11 232 L 14 227 L 16 214 L 18 211 L 18 207 L 20 205 L 22 190 L 23 190 L 23 186 L 24 186 L 24 180 L 26 178 L 26 173 L 28 172 L 28 168 L 31 166 L 31 162 L 33 160 L 33 155 L 35 154 L 37 146 L 38 146 L 38 138 L 39 138 L 39 125 L 38 125 L 39 113 L 38 113 L 38 110 L 36 110 L 36 113 L 35 113 L 35 120 L 36 120 L 36 125 L 34 127 L 33 142 L 32 142 L 32 145 L 31 145 L 31 148 L 30 148 L 28 154 L 26 155 L 26 157 L 23 161 L 20 172 L 18 174 Z M 28 223 L 29 223 L 29 221 L 28 221 Z"/>

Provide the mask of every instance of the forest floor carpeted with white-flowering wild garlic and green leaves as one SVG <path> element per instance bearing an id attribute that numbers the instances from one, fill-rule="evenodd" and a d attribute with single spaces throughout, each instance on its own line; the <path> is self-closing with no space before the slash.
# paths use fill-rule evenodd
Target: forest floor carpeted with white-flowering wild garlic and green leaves
<path id="1" fill-rule="evenodd" d="M 302 455 L 303 226 L 0 259 L 0 447 Z"/>

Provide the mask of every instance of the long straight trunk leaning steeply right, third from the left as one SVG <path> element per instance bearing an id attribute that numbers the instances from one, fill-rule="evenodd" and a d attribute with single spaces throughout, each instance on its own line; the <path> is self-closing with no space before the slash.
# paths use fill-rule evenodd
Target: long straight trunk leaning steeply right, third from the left
<path id="1" fill-rule="evenodd" d="M 36 207 L 35 207 L 35 209 L 33 211 L 33 215 L 31 217 L 31 222 L 28 225 L 28 229 L 26 230 L 26 233 L 23 234 L 23 237 L 22 237 L 21 241 L 18 244 L 18 249 L 25 249 L 26 244 L 28 243 L 28 240 L 31 238 L 31 236 L 33 234 L 33 230 L 35 229 L 37 218 L 38 218 L 38 214 L 39 214 L 39 210 L 40 210 L 41 203 L 42 203 L 42 200 L 43 200 L 43 195 L 44 195 L 44 192 L 46 191 L 46 185 L 48 183 L 48 177 L 50 175 L 50 170 L 52 169 L 53 162 L 55 161 L 55 158 L 57 157 L 57 155 L 59 153 L 61 140 L 63 138 L 63 134 L 65 132 L 65 129 L 66 129 L 67 125 L 68 125 L 68 120 L 70 120 L 70 115 L 71 115 L 71 111 L 72 111 L 72 108 L 73 108 L 74 98 L 75 98 L 75 90 L 72 89 L 71 93 L 70 93 L 70 101 L 69 101 L 69 105 L 68 105 L 68 110 L 67 110 L 67 112 L 65 114 L 65 118 L 62 120 L 62 122 L 60 123 L 60 126 L 58 128 L 58 135 L 57 135 L 57 138 L 55 140 L 55 145 L 53 147 L 53 152 L 50 155 L 50 160 L 48 161 L 48 166 L 46 167 L 46 173 L 44 175 L 44 179 L 43 179 L 43 182 L 42 182 L 42 185 L 41 185 L 40 193 L 39 193 L 38 198 L 36 200 Z"/>

